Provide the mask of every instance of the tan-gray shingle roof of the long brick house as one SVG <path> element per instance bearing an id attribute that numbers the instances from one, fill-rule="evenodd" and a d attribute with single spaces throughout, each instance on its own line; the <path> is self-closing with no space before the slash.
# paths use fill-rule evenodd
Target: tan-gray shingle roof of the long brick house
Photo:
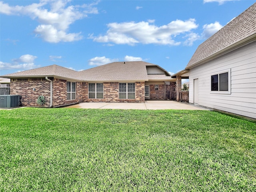
<path id="1" fill-rule="evenodd" d="M 148 81 L 150 80 L 171 80 L 170 76 L 166 75 L 148 75 L 146 66 L 157 66 L 148 62 L 133 61 L 133 62 L 113 62 L 102 66 L 90 68 L 83 71 L 74 71 L 58 65 L 50 65 L 46 67 L 26 70 L 13 74 L 4 75 L 2 77 L 64 77 L 68 79 L 81 81 L 98 81 L 98 82 L 113 82 L 113 81 Z M 159 67 L 159 66 L 158 66 Z M 162 69 L 162 68 L 161 68 Z M 164 70 L 164 69 L 162 69 Z"/>

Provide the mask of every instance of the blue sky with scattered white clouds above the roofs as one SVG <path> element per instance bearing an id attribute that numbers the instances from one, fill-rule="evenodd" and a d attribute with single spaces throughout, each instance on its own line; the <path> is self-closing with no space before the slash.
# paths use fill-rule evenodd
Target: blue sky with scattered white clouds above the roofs
<path id="1" fill-rule="evenodd" d="M 0 1 L 0 75 L 143 60 L 171 74 L 250 0 Z"/>

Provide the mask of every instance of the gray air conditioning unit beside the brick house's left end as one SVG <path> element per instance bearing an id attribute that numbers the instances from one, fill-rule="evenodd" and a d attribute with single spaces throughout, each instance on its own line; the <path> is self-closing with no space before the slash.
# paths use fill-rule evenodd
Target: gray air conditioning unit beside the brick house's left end
<path id="1" fill-rule="evenodd" d="M 19 95 L 0 95 L 0 108 L 15 108 L 19 103 Z"/>

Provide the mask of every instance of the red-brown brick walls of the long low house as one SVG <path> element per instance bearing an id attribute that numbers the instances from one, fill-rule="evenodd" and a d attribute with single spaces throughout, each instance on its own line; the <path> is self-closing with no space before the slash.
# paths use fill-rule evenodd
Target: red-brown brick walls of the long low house
<path id="1" fill-rule="evenodd" d="M 135 82 L 135 99 L 119 99 L 119 82 L 104 82 L 103 99 L 88 98 L 88 82 L 76 82 L 76 99 L 67 100 L 67 80 L 50 78 L 53 85 L 52 106 L 64 106 L 78 102 L 144 102 L 145 82 Z M 166 90 L 164 89 L 166 86 Z M 33 90 L 35 89 L 35 90 Z M 175 90 L 175 82 L 170 85 L 159 84 L 158 90 L 150 85 L 150 99 L 170 99 L 170 91 Z M 21 95 L 23 106 L 40 106 L 37 99 L 43 95 L 50 106 L 50 82 L 45 78 L 12 79 L 10 82 L 10 94 Z"/>

